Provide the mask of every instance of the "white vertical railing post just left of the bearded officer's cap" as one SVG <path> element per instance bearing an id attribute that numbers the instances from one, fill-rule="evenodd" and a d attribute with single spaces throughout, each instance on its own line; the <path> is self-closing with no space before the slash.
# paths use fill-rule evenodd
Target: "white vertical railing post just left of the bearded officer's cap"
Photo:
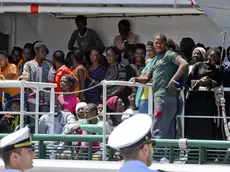
<path id="1" fill-rule="evenodd" d="M 107 88 L 106 88 L 106 82 L 102 82 L 103 85 L 103 150 L 102 150 L 102 160 L 106 160 L 106 128 L 105 128 L 105 123 L 106 123 L 106 100 L 107 100 Z"/>

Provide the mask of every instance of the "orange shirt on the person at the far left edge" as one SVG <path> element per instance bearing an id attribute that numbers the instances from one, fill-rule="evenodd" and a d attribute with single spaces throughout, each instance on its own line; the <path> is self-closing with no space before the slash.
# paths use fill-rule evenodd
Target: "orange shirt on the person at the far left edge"
<path id="1" fill-rule="evenodd" d="M 3 75 L 5 78 L 9 74 L 14 74 L 14 78 L 12 80 L 17 80 L 18 79 L 18 69 L 15 64 L 8 64 L 6 69 L 1 71 L 0 70 L 0 75 Z M 20 94 L 20 88 L 3 88 L 2 89 L 5 93 L 8 93 L 11 97 Z"/>

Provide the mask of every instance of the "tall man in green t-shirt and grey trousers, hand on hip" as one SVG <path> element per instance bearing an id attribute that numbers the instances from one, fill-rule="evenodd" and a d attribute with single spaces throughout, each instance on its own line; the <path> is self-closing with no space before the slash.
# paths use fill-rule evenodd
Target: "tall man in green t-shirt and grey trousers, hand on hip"
<path id="1" fill-rule="evenodd" d="M 178 80 L 188 68 L 188 63 L 178 54 L 166 49 L 167 38 L 160 34 L 154 38 L 156 57 L 149 70 L 131 81 L 148 83 L 152 79 L 154 89 L 153 137 L 173 139 L 174 117 L 177 110 Z"/>

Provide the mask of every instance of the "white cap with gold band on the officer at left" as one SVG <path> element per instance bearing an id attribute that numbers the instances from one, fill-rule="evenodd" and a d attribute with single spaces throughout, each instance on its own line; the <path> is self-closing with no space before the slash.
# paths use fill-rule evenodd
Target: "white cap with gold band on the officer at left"
<path id="1" fill-rule="evenodd" d="M 32 147 L 30 129 L 28 127 L 8 134 L 0 141 L 0 149 L 3 151 L 22 147 Z"/>

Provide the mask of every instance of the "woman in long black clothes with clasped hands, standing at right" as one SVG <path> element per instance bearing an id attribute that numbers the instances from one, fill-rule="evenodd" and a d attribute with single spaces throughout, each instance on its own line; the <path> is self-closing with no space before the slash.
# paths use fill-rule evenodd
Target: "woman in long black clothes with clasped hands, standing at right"
<path id="1" fill-rule="evenodd" d="M 185 115 L 217 115 L 214 92 L 211 89 L 220 85 L 219 67 L 220 50 L 211 48 L 207 52 L 208 61 L 197 62 L 188 76 L 188 85 L 192 89 L 187 94 Z M 198 91 L 206 87 L 207 91 Z M 186 118 L 185 137 L 189 139 L 219 139 L 219 128 L 214 119 Z M 202 131 L 202 132 L 201 132 Z"/>

